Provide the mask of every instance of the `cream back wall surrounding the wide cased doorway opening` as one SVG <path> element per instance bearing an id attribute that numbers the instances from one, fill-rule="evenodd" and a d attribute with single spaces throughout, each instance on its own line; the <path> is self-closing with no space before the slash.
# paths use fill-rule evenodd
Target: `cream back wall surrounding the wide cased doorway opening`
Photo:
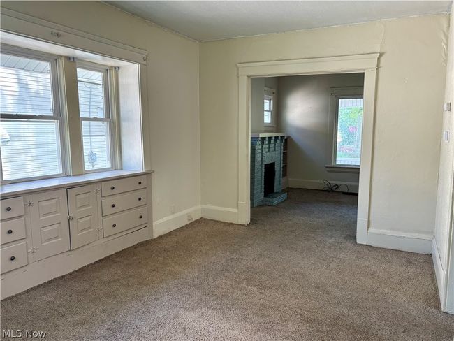
<path id="1" fill-rule="evenodd" d="M 201 43 L 202 203 L 237 209 L 237 63 L 380 52 L 369 226 L 432 238 L 447 28 L 427 15 Z"/>

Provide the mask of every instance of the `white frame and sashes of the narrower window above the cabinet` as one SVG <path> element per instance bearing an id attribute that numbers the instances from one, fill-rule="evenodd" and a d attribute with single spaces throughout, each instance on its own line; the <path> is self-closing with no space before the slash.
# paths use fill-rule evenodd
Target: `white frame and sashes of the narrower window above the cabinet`
<path id="1" fill-rule="evenodd" d="M 80 117 L 80 139 L 82 144 L 82 154 L 84 153 L 83 150 L 83 132 L 82 132 L 82 122 L 89 121 L 89 122 L 107 122 L 109 124 L 109 157 L 110 157 L 110 167 L 106 168 L 98 168 L 93 170 L 86 170 L 85 169 L 85 161 L 82 158 L 82 168 L 85 173 L 97 173 L 97 172 L 105 172 L 107 170 L 114 170 L 117 169 L 118 166 L 118 148 L 117 148 L 117 119 L 115 115 L 115 101 L 116 96 L 114 92 L 115 86 L 113 83 L 115 82 L 115 77 L 112 75 L 113 68 L 110 66 L 104 66 L 101 64 L 94 64 L 89 61 L 76 61 L 76 68 L 85 68 L 91 71 L 98 71 L 103 73 L 103 92 L 104 92 L 104 118 L 89 118 L 89 117 Z M 77 82 L 77 80 L 76 80 Z"/>

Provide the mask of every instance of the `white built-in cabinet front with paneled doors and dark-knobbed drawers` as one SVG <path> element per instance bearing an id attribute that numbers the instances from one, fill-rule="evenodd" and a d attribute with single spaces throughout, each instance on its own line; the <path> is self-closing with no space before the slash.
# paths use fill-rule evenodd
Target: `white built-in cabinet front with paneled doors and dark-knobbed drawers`
<path id="1" fill-rule="evenodd" d="M 2 198 L 2 276 L 147 226 L 147 199 L 146 174 Z"/>

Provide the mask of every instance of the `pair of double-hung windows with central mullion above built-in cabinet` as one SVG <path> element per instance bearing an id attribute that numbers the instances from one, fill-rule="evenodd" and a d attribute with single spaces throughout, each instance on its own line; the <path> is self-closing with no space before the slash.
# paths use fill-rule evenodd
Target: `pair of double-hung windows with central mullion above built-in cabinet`
<path id="1" fill-rule="evenodd" d="M 114 67 L 10 45 L 0 59 L 2 184 L 116 168 Z"/>

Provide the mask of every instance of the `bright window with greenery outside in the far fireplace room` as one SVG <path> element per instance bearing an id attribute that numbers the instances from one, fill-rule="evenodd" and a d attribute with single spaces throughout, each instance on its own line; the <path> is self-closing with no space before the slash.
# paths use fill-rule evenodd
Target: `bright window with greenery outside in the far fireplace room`
<path id="1" fill-rule="evenodd" d="M 336 96 L 334 160 L 336 166 L 360 166 L 363 96 Z"/>

